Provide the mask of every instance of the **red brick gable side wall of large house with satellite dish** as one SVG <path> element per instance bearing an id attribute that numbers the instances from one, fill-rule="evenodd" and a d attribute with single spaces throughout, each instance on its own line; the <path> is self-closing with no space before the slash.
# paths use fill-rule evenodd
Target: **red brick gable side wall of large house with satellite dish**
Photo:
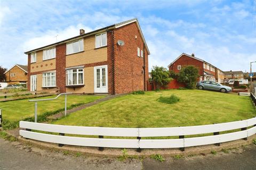
<path id="1" fill-rule="evenodd" d="M 137 39 L 135 39 L 137 36 Z M 124 46 L 118 46 L 117 40 L 123 40 Z M 137 47 L 143 50 L 143 41 L 136 23 L 115 29 L 115 92 L 123 94 L 135 90 L 144 90 L 143 58 L 137 56 Z M 148 81 L 148 54 L 145 50 L 145 72 Z"/>

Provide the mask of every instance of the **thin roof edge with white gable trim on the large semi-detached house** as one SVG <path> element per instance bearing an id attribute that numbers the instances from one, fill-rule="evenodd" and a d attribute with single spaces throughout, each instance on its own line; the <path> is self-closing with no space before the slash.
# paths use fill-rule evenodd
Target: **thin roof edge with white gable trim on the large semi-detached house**
<path id="1" fill-rule="evenodd" d="M 144 38 L 144 36 L 142 34 L 142 31 L 141 31 L 141 28 L 140 28 L 140 25 L 139 25 L 139 22 L 138 22 L 137 18 L 134 18 L 134 19 L 131 19 L 131 20 L 127 20 L 127 21 L 123 21 L 123 22 L 119 22 L 119 23 L 116 23 L 116 24 L 113 24 L 113 25 L 109 25 L 108 27 L 104 27 L 104 28 L 97 29 L 97 30 L 94 30 L 94 31 L 91 31 L 91 32 L 87 32 L 87 33 L 84 33 L 83 35 L 79 35 L 79 36 L 76 36 L 76 37 L 65 39 L 65 40 L 62 40 L 62 41 L 59 41 L 57 43 L 53 43 L 53 44 L 50 44 L 50 45 L 47 45 L 47 46 L 43 46 L 43 47 L 40 47 L 40 48 L 32 49 L 32 50 L 29 50 L 28 52 L 25 52 L 25 54 L 33 53 L 33 52 L 36 52 L 38 50 L 50 48 L 50 47 L 57 46 L 57 45 L 60 45 L 60 44 L 65 44 L 65 43 L 68 43 L 69 41 L 73 41 L 75 39 L 79 39 L 79 38 L 84 38 L 84 37 L 87 37 L 87 36 L 95 35 L 95 34 L 97 34 L 99 32 L 105 31 L 105 30 L 111 30 L 111 29 L 123 27 L 124 25 L 130 24 L 132 22 L 135 22 L 138 25 L 139 32 L 140 32 L 140 35 L 142 37 L 143 43 L 145 43 L 146 50 L 147 50 L 148 54 L 150 54 L 148 46 L 147 46 L 147 43 L 146 43 L 146 40 L 145 40 L 145 38 Z"/>

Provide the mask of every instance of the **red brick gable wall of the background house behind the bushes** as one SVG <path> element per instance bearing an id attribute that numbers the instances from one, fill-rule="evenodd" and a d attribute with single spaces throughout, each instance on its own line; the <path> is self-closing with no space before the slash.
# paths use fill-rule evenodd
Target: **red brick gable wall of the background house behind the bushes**
<path id="1" fill-rule="evenodd" d="M 182 55 L 177 61 L 170 65 L 169 71 L 173 70 L 175 73 L 178 73 L 178 65 L 181 65 L 181 68 L 182 66 L 193 65 L 198 68 L 199 75 L 204 76 L 203 62 L 196 60 L 195 58 Z"/>

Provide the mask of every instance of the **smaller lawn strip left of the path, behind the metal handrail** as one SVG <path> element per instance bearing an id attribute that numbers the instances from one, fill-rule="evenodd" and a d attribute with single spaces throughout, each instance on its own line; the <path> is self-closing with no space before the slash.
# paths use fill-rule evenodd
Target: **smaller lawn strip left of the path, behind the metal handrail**
<path id="1" fill-rule="evenodd" d="M 34 99 L 46 99 L 54 98 L 54 96 L 38 97 Z M 67 97 L 67 107 L 77 104 L 85 104 L 91 101 L 103 98 L 105 96 L 93 96 L 93 95 L 77 95 Z M 28 117 L 34 117 L 35 102 L 29 102 L 29 99 L 5 101 L 0 102 L 0 109 L 2 109 L 3 120 L 8 121 L 20 121 Z M 65 107 L 65 96 L 60 96 L 55 100 L 38 101 L 37 102 L 37 114 L 41 115 L 45 112 L 57 111 Z"/>

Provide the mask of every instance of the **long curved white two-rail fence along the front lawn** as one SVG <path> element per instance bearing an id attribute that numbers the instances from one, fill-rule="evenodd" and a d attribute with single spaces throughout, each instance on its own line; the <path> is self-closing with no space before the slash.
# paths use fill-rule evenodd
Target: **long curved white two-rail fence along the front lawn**
<path id="1" fill-rule="evenodd" d="M 20 135 L 23 138 L 34 139 L 38 141 L 75 146 L 109 148 L 185 148 L 248 138 L 256 133 L 255 125 L 256 117 L 244 121 L 200 126 L 185 126 L 177 128 L 100 128 L 20 121 L 20 128 L 26 129 L 20 130 Z M 253 126 L 253 128 L 250 128 L 251 126 Z M 223 132 L 235 129 L 242 129 L 242 131 L 183 139 L 141 139 L 141 137 L 182 137 L 184 135 Z M 137 139 L 70 137 L 31 132 L 30 130 L 54 132 L 59 134 L 99 135 L 99 137 L 137 137 Z"/>

